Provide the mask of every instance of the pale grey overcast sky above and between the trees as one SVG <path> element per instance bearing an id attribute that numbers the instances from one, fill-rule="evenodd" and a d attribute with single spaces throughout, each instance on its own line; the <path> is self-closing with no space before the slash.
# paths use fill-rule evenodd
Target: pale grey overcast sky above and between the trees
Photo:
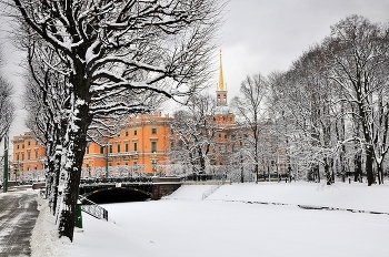
<path id="1" fill-rule="evenodd" d="M 287 70 L 302 51 L 329 35 L 330 25 L 341 19 L 360 14 L 372 22 L 388 23 L 388 11 L 389 0 L 230 0 L 218 35 L 228 100 L 238 94 L 240 83 L 248 74 L 267 75 L 276 70 Z M 9 45 L 4 51 L 8 66 L 2 70 L 19 89 L 21 80 L 14 66 L 17 52 Z M 216 50 L 216 59 L 218 54 L 219 50 Z M 217 82 L 218 74 L 213 84 Z M 17 93 L 16 97 L 19 96 Z M 19 115 L 10 132 L 11 138 L 26 130 Z"/>

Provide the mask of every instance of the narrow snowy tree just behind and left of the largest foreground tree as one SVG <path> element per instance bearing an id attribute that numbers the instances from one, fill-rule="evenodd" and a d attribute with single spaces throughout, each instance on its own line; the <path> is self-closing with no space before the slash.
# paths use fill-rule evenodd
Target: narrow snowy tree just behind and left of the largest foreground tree
<path id="1" fill-rule="evenodd" d="M 28 33 L 28 32 L 27 32 Z M 39 38 L 27 37 L 22 42 L 27 49 L 27 78 L 24 105 L 29 113 L 27 126 L 44 147 L 47 198 L 51 212 L 56 214 L 57 196 L 64 136 L 66 120 L 62 111 L 69 89 L 59 52 Z"/>

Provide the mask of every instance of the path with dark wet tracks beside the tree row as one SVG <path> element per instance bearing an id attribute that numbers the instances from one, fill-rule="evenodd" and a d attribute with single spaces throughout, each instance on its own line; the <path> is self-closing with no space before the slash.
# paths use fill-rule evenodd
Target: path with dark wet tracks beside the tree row
<path id="1" fill-rule="evenodd" d="M 0 193 L 0 257 L 30 256 L 30 239 L 39 210 L 37 194 Z"/>

